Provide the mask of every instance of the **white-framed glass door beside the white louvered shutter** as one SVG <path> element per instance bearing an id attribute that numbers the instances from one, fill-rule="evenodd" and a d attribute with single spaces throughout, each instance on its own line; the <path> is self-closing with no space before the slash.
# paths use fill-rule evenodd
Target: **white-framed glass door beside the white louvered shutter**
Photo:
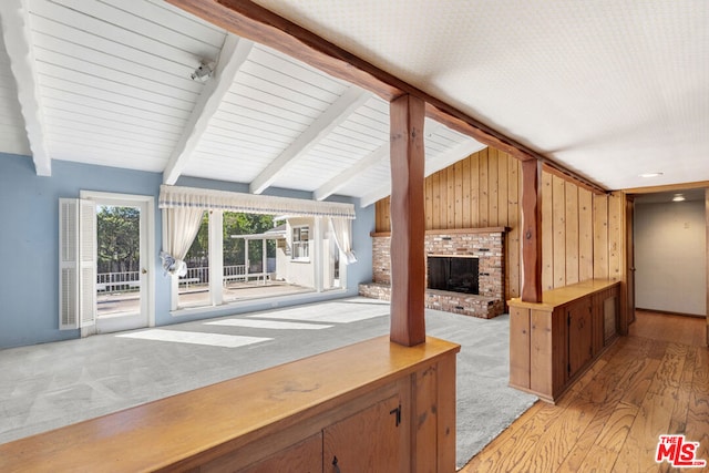
<path id="1" fill-rule="evenodd" d="M 95 204 L 95 325 L 83 335 L 155 325 L 154 198 L 82 192 Z"/>

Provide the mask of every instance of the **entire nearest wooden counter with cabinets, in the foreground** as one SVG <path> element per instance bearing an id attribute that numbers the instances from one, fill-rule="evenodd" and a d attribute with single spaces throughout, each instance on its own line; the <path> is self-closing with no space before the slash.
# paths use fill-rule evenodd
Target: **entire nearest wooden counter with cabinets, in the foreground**
<path id="1" fill-rule="evenodd" d="M 2 444 L 0 471 L 453 472 L 458 351 L 376 338 Z"/>

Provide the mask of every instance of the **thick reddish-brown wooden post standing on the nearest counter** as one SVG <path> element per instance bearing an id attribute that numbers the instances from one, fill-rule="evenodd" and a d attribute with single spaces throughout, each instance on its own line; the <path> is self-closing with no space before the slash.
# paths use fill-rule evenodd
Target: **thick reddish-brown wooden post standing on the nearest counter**
<path id="1" fill-rule="evenodd" d="M 390 103 L 391 120 L 391 341 L 425 341 L 423 239 L 424 102 L 402 95 Z"/>

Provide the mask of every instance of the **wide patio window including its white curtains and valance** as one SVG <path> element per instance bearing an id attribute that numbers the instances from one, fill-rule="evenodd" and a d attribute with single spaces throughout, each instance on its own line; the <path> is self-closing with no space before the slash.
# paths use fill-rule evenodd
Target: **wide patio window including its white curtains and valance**
<path id="1" fill-rule="evenodd" d="M 352 204 L 163 185 L 160 208 L 165 253 L 186 264 L 172 278 L 172 310 L 343 289 L 340 257 L 356 261 L 333 226 L 350 224 Z"/>

